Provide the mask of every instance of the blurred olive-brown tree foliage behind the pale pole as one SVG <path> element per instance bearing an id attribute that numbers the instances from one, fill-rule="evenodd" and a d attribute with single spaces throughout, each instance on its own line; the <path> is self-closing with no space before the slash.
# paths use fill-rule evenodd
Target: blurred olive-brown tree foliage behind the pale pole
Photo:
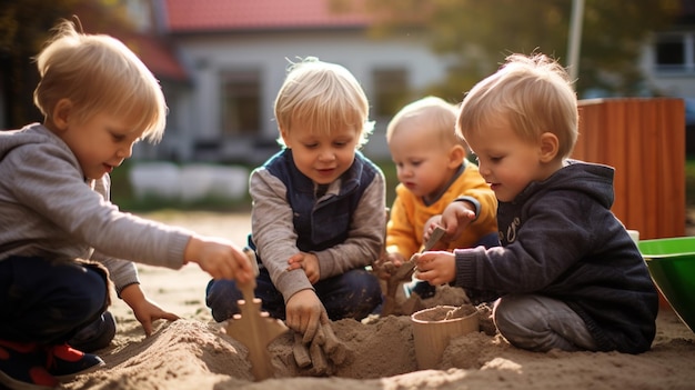
<path id="1" fill-rule="evenodd" d="M 354 4 L 332 1 L 335 9 Z M 638 94 L 645 39 L 673 23 L 679 3 L 586 0 L 575 84 L 580 96 L 596 88 Z M 572 0 L 363 0 L 363 7 L 374 16 L 373 36 L 419 33 L 450 61 L 447 80 L 427 93 L 460 100 L 512 52 L 543 52 L 565 62 Z"/>

